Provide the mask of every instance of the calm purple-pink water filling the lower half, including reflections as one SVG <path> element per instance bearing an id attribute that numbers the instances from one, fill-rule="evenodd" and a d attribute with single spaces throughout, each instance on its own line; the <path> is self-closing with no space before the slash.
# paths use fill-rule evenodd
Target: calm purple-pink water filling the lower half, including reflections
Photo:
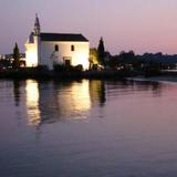
<path id="1" fill-rule="evenodd" d="M 176 177 L 177 83 L 0 81 L 0 177 Z"/>

